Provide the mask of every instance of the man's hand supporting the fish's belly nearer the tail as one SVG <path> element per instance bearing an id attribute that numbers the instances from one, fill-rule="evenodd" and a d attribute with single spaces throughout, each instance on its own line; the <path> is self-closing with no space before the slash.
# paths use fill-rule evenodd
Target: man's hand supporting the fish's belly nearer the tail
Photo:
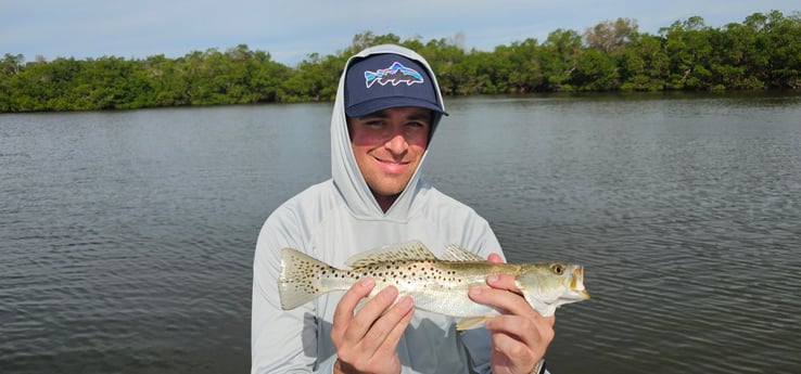
<path id="1" fill-rule="evenodd" d="M 400 373 L 395 348 L 411 321 L 414 302 L 406 296 L 393 306 L 397 288 L 390 286 L 354 314 L 359 300 L 370 295 L 374 286 L 376 281 L 370 278 L 360 280 L 336 306 L 331 330 L 331 340 L 339 356 L 334 373 Z"/>

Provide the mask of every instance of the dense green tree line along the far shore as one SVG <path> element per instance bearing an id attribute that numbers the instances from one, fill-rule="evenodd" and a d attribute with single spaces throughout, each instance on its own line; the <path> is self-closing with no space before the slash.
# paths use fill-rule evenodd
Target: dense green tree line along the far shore
<path id="1" fill-rule="evenodd" d="M 5 53 L 0 113 L 332 101 L 347 57 L 380 43 L 425 56 L 446 95 L 801 89 L 799 12 L 754 13 L 719 28 L 694 16 L 658 35 L 619 18 L 582 34 L 557 29 L 542 42 L 529 38 L 493 51 L 468 51 L 463 38 L 423 42 L 366 31 L 335 54 L 312 53 L 292 67 L 246 44 L 177 59 L 26 62 L 22 54 Z"/>

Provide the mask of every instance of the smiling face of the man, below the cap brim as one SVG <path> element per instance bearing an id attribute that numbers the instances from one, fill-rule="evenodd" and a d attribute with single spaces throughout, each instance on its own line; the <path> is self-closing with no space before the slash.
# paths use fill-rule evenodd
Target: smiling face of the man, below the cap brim
<path id="1" fill-rule="evenodd" d="M 356 164 L 386 211 L 420 165 L 429 143 L 431 111 L 393 107 L 348 118 L 347 129 Z"/>

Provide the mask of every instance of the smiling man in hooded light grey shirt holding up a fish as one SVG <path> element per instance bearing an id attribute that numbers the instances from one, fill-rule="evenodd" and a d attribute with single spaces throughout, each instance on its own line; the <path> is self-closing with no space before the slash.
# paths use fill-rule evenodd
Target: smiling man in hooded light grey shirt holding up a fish
<path id="1" fill-rule="evenodd" d="M 281 309 L 277 279 L 283 247 L 339 268 L 357 253 L 410 240 L 435 255 L 457 244 L 501 261 L 486 220 L 422 178 L 443 115 L 436 79 L 417 53 L 379 46 L 347 62 L 331 118 L 332 178 L 277 208 L 258 236 L 253 373 L 453 374 L 472 367 L 525 374 L 542 369 L 554 319 L 537 314 L 508 276 L 488 276 L 488 286 L 470 291 L 476 302 L 506 313 L 466 332 L 457 332 L 452 318 L 415 310 L 414 300 L 398 299 L 395 287 L 357 308 L 374 286 L 370 279 L 344 294 Z"/>

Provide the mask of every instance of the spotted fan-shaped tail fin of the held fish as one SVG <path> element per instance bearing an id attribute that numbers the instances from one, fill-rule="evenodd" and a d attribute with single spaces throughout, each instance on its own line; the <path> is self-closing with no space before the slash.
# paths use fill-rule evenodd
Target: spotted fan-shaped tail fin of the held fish
<path id="1" fill-rule="evenodd" d="M 278 294 L 281 308 L 295 309 L 331 291 L 320 283 L 322 271 L 334 268 L 293 248 L 281 249 L 281 274 L 278 278 Z"/>

